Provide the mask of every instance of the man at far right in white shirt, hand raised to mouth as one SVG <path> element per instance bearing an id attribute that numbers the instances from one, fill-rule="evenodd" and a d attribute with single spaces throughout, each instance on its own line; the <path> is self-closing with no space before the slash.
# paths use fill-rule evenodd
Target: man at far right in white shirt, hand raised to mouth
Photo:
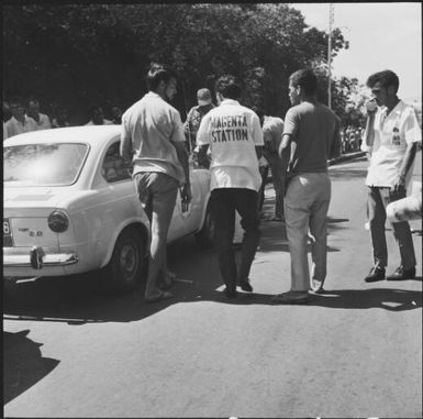
<path id="1" fill-rule="evenodd" d="M 366 178 L 374 266 L 365 282 L 415 277 L 415 254 L 407 221 L 392 224 L 400 247 L 401 265 L 386 277 L 388 250 L 385 236 L 386 207 L 405 197 L 412 176 L 416 145 L 422 131 L 412 107 L 397 96 L 399 79 L 391 70 L 371 75 L 367 80 L 375 101 L 367 104 L 367 124 L 361 148 L 371 154 Z M 377 104 L 377 106 L 376 106 Z"/>

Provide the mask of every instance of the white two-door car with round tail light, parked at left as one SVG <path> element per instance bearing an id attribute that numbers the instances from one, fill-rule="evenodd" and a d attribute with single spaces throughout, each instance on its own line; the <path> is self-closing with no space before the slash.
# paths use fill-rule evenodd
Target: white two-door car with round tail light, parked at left
<path id="1" fill-rule="evenodd" d="M 36 131 L 3 142 L 3 276 L 63 276 L 104 268 L 131 290 L 142 278 L 149 221 L 119 154 L 120 126 Z M 191 169 L 192 202 L 178 196 L 168 240 L 210 244 L 210 173 Z"/>

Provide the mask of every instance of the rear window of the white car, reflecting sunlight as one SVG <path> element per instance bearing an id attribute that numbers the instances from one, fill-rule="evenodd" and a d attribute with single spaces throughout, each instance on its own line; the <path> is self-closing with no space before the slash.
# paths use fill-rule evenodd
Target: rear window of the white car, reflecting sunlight
<path id="1" fill-rule="evenodd" d="M 65 186 L 77 181 L 88 154 L 79 143 L 25 144 L 3 148 L 3 179 L 16 186 Z"/>

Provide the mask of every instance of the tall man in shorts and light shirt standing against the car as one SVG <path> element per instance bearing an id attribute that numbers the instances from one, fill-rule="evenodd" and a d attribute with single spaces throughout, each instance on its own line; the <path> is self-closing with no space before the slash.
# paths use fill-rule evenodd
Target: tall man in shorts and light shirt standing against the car
<path id="1" fill-rule="evenodd" d="M 152 223 L 152 243 L 145 300 L 172 295 L 160 289 L 171 285 L 167 271 L 166 241 L 178 187 L 191 200 L 188 153 L 179 112 L 170 106 L 177 92 L 177 76 L 152 64 L 146 77 L 148 92 L 122 115 L 121 155 L 134 166 L 133 178 L 140 201 Z"/>

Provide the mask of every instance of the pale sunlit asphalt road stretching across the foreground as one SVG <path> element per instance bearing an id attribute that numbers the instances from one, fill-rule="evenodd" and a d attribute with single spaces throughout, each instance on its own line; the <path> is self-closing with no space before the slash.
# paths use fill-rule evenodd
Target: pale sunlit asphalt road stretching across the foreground
<path id="1" fill-rule="evenodd" d="M 4 416 L 421 418 L 422 267 L 415 280 L 364 283 L 366 166 L 331 167 L 329 293 L 309 306 L 269 304 L 289 289 L 275 222 L 263 223 L 255 293 L 234 302 L 213 252 L 190 238 L 169 249 L 169 302 L 101 295 L 82 277 L 20 284 L 4 301 Z M 390 271 L 391 231 L 388 244 Z"/>

